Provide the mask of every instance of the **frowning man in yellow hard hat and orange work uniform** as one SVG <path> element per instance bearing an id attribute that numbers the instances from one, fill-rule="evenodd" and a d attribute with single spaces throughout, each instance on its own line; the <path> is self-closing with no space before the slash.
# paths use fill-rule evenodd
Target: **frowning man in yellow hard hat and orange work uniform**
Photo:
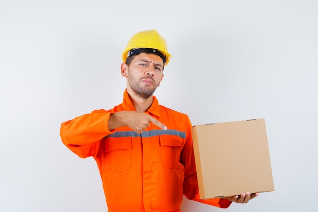
<path id="1" fill-rule="evenodd" d="M 61 125 L 63 143 L 79 157 L 96 160 L 108 211 L 180 211 L 182 194 L 226 208 L 258 195 L 199 198 L 190 120 L 152 95 L 170 57 L 155 30 L 135 34 L 122 53 L 123 102 Z"/>

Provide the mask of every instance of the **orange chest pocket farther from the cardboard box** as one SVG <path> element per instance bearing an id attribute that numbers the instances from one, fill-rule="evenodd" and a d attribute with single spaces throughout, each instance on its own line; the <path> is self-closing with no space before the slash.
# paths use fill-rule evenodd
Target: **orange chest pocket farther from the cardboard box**
<path id="1" fill-rule="evenodd" d="M 110 171 L 126 171 L 132 166 L 132 139 L 107 138 L 104 142 L 105 164 Z"/>

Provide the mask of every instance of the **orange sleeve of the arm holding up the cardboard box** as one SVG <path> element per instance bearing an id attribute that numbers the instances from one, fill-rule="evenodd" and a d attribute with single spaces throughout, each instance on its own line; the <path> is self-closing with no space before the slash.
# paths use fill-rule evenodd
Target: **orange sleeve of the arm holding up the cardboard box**
<path id="1" fill-rule="evenodd" d="M 181 155 L 181 162 L 184 165 L 183 195 L 190 200 L 195 200 L 220 208 L 228 208 L 232 202 L 226 199 L 200 199 L 191 128 L 192 125 L 188 120 L 186 126 L 186 143 Z"/>

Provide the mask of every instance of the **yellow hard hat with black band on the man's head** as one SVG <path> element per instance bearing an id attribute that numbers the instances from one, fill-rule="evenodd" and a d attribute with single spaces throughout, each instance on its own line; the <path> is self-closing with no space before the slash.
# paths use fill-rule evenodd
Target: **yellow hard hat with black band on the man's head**
<path id="1" fill-rule="evenodd" d="M 155 29 L 146 30 L 135 34 L 123 50 L 121 58 L 125 63 L 128 56 L 140 52 L 154 53 L 164 60 L 164 65 L 169 63 L 171 54 L 168 53 L 165 39 Z"/>

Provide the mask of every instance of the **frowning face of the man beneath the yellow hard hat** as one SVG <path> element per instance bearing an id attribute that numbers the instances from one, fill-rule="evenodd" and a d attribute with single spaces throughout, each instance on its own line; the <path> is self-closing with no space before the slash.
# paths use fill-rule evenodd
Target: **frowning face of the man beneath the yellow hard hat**
<path id="1" fill-rule="evenodd" d="M 127 78 L 128 89 L 148 99 L 163 79 L 164 62 L 156 54 L 140 53 L 134 57 L 129 67 L 123 64 L 121 73 Z"/>

